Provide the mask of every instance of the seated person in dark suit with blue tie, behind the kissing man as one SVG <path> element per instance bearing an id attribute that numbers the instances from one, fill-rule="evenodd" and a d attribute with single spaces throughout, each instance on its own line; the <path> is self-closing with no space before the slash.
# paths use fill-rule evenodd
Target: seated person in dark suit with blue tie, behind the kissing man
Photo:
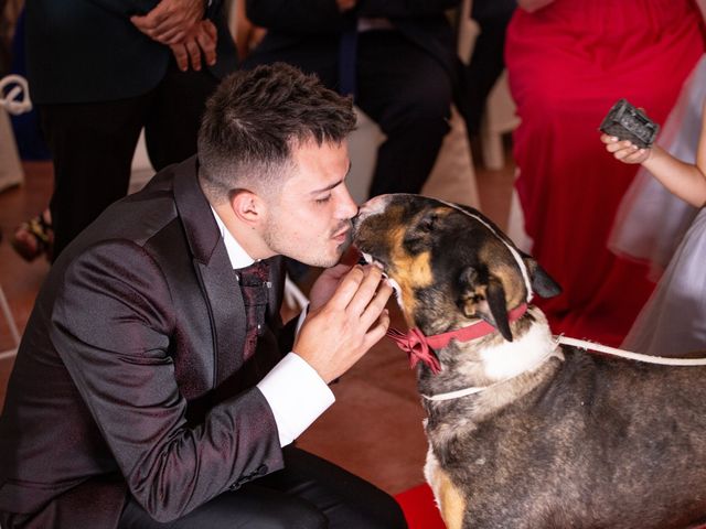
<path id="1" fill-rule="evenodd" d="M 248 0 L 267 29 L 244 67 L 284 61 L 315 73 L 385 133 L 371 196 L 418 193 L 449 131 L 460 72 L 445 11 L 458 0 Z"/>

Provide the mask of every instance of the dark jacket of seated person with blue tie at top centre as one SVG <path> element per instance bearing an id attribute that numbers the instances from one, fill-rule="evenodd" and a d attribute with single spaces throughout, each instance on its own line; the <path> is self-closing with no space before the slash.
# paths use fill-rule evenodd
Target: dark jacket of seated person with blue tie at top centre
<path id="1" fill-rule="evenodd" d="M 354 13 L 342 14 L 334 0 L 247 0 L 247 14 L 253 23 L 268 30 L 256 54 L 275 57 L 287 56 L 312 39 L 318 42 L 320 53 L 328 50 L 338 54 L 346 17 L 384 17 L 456 78 L 459 60 L 445 12 L 458 4 L 459 0 L 361 0 Z"/>

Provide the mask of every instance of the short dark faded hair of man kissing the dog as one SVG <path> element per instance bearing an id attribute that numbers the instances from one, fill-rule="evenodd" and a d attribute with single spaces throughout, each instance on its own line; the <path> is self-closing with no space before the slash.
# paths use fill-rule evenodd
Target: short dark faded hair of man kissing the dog
<path id="1" fill-rule="evenodd" d="M 284 63 L 236 72 L 211 96 L 201 122 L 204 192 L 222 202 L 236 188 L 277 188 L 292 162 L 292 147 L 341 143 L 354 128 L 351 98 L 325 88 L 314 75 Z"/>

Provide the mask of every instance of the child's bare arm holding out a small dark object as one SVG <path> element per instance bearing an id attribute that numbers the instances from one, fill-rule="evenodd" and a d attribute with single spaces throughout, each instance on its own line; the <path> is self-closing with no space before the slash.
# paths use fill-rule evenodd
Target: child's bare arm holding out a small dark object
<path id="1" fill-rule="evenodd" d="M 702 207 L 706 204 L 706 105 L 702 111 L 702 131 L 696 152 L 696 164 L 677 160 L 659 145 L 639 149 L 630 141 L 601 136 L 606 150 L 623 163 L 641 163 L 671 193 L 688 204 Z"/>

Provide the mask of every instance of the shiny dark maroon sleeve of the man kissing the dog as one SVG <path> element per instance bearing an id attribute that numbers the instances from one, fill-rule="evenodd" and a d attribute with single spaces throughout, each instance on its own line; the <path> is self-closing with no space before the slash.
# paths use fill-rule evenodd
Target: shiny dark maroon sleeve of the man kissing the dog
<path id="1" fill-rule="evenodd" d="M 52 339 L 153 518 L 172 520 L 282 467 L 275 419 L 256 388 L 214 407 L 203 423 L 186 423 L 169 355 L 179 337 L 168 283 L 141 247 L 98 245 L 69 266 L 63 284 Z"/>

